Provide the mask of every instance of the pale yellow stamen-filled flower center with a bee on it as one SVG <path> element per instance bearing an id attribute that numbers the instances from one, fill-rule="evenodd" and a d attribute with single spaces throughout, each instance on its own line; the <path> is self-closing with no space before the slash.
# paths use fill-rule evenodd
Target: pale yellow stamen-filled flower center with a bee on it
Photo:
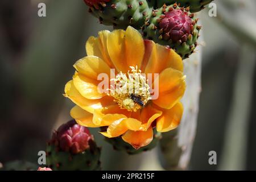
<path id="1" fill-rule="evenodd" d="M 111 79 L 110 96 L 118 103 L 121 109 L 137 111 L 146 106 L 150 100 L 150 86 L 146 75 L 138 67 L 130 67 L 126 74 L 120 72 Z"/>

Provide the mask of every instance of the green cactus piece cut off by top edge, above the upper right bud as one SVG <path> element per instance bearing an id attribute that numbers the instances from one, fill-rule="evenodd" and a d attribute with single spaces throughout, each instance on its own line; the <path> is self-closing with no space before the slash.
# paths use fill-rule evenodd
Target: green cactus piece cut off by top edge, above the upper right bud
<path id="1" fill-rule="evenodd" d="M 157 0 L 157 6 L 161 7 L 164 4 L 172 5 L 175 2 L 180 4 L 181 7 L 189 7 L 191 13 L 196 13 L 205 8 L 213 0 Z"/>

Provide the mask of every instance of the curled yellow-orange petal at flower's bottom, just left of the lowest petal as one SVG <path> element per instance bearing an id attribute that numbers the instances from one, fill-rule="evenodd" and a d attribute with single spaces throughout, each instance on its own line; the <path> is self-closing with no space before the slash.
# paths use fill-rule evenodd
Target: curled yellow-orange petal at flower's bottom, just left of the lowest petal
<path id="1" fill-rule="evenodd" d="M 106 132 L 101 134 L 108 138 L 118 137 L 127 130 L 137 131 L 142 127 L 141 122 L 133 118 L 121 118 L 111 123 Z"/>

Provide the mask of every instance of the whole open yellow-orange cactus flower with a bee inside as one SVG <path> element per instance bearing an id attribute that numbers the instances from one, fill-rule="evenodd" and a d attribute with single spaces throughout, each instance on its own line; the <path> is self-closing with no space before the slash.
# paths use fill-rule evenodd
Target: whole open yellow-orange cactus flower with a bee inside
<path id="1" fill-rule="evenodd" d="M 143 40 L 137 30 L 127 27 L 90 37 L 86 53 L 74 64 L 75 75 L 65 85 L 64 96 L 76 104 L 71 116 L 77 123 L 108 127 L 102 135 L 122 136 L 136 149 L 152 141 L 154 127 L 166 132 L 179 125 L 185 76 L 174 50 Z"/>

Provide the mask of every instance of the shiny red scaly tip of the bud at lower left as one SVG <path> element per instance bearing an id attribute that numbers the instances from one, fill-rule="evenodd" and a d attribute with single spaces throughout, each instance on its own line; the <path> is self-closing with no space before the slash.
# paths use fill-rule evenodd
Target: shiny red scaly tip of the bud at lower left
<path id="1" fill-rule="evenodd" d="M 62 151 L 70 151 L 78 154 L 89 148 L 89 140 L 93 139 L 90 131 L 76 123 L 75 120 L 69 121 L 53 132 L 51 142 L 59 146 Z"/>

